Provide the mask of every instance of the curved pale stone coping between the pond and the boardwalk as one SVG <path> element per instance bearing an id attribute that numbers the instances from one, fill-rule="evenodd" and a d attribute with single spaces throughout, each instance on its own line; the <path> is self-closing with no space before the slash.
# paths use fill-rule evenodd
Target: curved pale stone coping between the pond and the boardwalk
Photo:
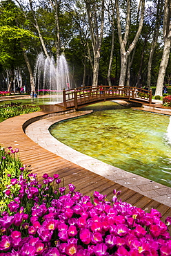
<path id="1" fill-rule="evenodd" d="M 171 207 L 171 188 L 77 152 L 77 150 L 59 142 L 59 140 L 54 138 L 48 130 L 55 122 L 75 118 L 88 113 L 91 113 L 91 111 L 63 113 L 60 116 L 57 116 L 56 113 L 54 116 L 42 116 L 36 121 L 30 119 L 27 124 L 25 124 L 26 135 L 41 147 L 58 156 L 66 158 L 72 163 L 80 165 L 91 172 L 99 174 L 111 181 L 125 186 L 126 188 L 139 192 L 144 196 L 148 196 L 150 199 L 154 199 L 159 203 Z"/>

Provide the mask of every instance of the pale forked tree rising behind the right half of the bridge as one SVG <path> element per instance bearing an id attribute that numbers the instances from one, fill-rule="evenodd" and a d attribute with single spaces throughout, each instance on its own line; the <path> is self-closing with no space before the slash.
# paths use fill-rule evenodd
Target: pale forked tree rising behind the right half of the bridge
<path id="1" fill-rule="evenodd" d="M 125 77 L 126 71 L 128 68 L 128 56 L 134 49 L 139 39 L 139 35 L 141 34 L 141 30 L 143 27 L 143 17 L 144 17 L 144 10 L 145 10 L 145 0 L 141 0 L 141 17 L 139 21 L 139 28 L 137 33 L 132 41 L 132 43 L 128 46 L 128 37 L 130 31 L 130 4 L 131 1 L 127 0 L 127 10 L 126 10 L 126 21 L 125 21 L 125 33 L 124 37 L 122 36 L 121 30 L 121 18 L 119 14 L 119 1 L 116 0 L 117 6 L 117 27 L 118 27 L 118 34 L 119 34 L 119 44 L 120 44 L 120 51 L 121 51 L 121 73 L 119 78 L 119 86 L 125 85 Z"/>

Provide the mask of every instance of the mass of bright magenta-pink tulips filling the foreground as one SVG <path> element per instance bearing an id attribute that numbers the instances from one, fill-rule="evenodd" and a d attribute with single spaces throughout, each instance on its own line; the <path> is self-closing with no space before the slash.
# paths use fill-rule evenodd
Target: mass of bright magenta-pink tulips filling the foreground
<path id="1" fill-rule="evenodd" d="M 17 194 L 15 188 L 19 188 Z M 112 202 L 99 192 L 92 198 L 75 192 L 72 183 L 61 185 L 58 174 L 23 174 L 7 187 L 10 203 L 1 212 L 0 256 L 121 256 L 171 255 L 168 232 L 155 209 Z"/>

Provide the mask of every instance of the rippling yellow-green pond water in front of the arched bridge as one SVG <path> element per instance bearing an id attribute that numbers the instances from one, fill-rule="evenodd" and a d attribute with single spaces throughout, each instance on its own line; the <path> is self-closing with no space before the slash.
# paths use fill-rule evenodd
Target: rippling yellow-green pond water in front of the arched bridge
<path id="1" fill-rule="evenodd" d="M 171 187 L 169 123 L 170 116 L 105 107 L 58 122 L 50 133 L 83 154 Z"/>

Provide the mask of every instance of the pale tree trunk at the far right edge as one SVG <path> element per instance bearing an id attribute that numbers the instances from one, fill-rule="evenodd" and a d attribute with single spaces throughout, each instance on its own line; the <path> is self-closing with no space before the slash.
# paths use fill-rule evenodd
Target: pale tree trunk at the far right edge
<path id="1" fill-rule="evenodd" d="M 157 77 L 157 87 L 155 95 L 162 96 L 165 71 L 168 66 L 171 47 L 171 0 L 165 0 L 164 17 L 163 17 L 163 55 L 159 67 L 159 75 Z"/>

